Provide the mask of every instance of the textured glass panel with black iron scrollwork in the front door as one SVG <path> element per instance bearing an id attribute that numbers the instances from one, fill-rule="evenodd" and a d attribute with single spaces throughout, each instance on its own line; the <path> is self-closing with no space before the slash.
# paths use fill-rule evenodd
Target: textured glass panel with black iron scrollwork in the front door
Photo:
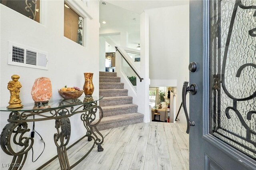
<path id="1" fill-rule="evenodd" d="M 211 19 L 210 19 L 210 56 L 212 58 L 211 61 L 211 67 L 212 67 L 212 82 L 214 82 L 212 85 L 212 96 L 213 96 L 213 105 L 212 105 L 212 134 L 221 140 L 224 140 L 234 148 L 240 150 L 241 152 L 244 152 L 244 154 L 247 154 L 248 156 L 252 157 L 256 160 L 256 123 L 255 123 L 255 117 L 254 120 L 252 120 L 252 115 L 256 114 L 256 111 L 251 110 L 255 107 L 255 98 L 256 98 L 256 90 L 253 90 L 255 88 L 250 89 L 242 89 L 240 88 L 243 83 L 246 85 L 252 85 L 255 86 L 256 74 L 255 71 L 253 72 L 253 69 L 256 69 L 256 60 L 255 56 L 250 53 L 234 53 L 235 50 L 239 49 L 237 46 L 234 46 L 234 42 L 237 41 L 237 39 L 246 36 L 241 39 L 247 40 L 245 42 L 244 40 L 241 42 L 238 42 L 238 44 L 244 45 L 245 48 L 248 43 L 248 38 L 255 37 L 255 30 L 256 28 L 249 28 L 246 31 L 242 31 L 240 35 L 237 35 L 240 29 L 240 26 L 235 26 L 235 24 L 238 24 L 237 18 L 242 20 L 242 17 L 245 17 L 246 10 L 255 10 L 253 17 L 256 17 L 256 6 L 253 5 L 244 5 L 241 0 L 236 0 L 233 4 L 233 10 L 231 14 L 231 20 L 229 23 L 228 33 L 226 33 L 224 30 L 224 27 L 222 27 L 221 24 L 225 25 L 224 22 L 221 22 L 223 18 L 222 12 L 226 18 L 227 18 L 227 10 L 223 11 L 222 8 L 227 7 L 230 5 L 230 3 L 234 3 L 233 1 L 211 1 Z M 251 16 L 252 17 L 252 16 Z M 249 22 L 249 21 L 247 21 Z M 244 24 L 244 23 L 243 23 Z M 246 23 L 245 23 L 246 24 Z M 252 24 L 251 24 L 252 25 Z M 255 25 L 254 25 L 255 26 Z M 246 29 L 246 27 L 243 26 L 243 29 Z M 234 31 L 235 30 L 235 31 Z M 221 34 L 226 34 L 221 35 Z M 234 35 L 236 34 L 236 35 Z M 232 38 L 234 36 L 235 38 Z M 240 36 L 240 37 L 239 37 Z M 239 37 L 239 38 L 238 38 Z M 226 38 L 225 45 L 222 44 L 222 42 Z M 251 38 L 250 38 L 251 40 Z M 253 39 L 251 41 L 256 41 L 256 39 Z M 244 43 L 244 44 L 243 44 Z M 232 44 L 232 47 L 230 47 Z M 224 46 L 224 51 L 222 51 L 222 48 Z M 242 48 L 240 48 L 242 49 Z M 240 58 L 239 58 L 240 57 Z M 242 63 L 241 59 L 243 57 L 252 57 L 251 59 L 244 59 Z M 221 63 L 222 61 L 222 63 Z M 236 65 L 231 65 L 237 61 Z M 239 66 L 240 65 L 240 66 Z M 248 67 L 248 68 L 247 68 Z M 235 71 L 237 69 L 237 71 Z M 227 73 L 227 70 L 229 71 Z M 231 70 L 231 71 L 230 71 Z M 234 82 L 235 78 L 238 79 L 237 82 L 241 85 L 238 86 L 238 83 Z M 249 74 L 250 78 L 248 81 L 242 81 L 241 74 L 243 72 L 243 76 L 247 73 Z M 254 74 L 253 74 L 254 73 Z M 240 79 L 239 79 L 240 78 Z M 250 83 L 248 83 L 250 81 Z M 237 85 L 237 86 L 236 86 Z M 244 86 L 244 85 L 243 85 Z M 220 88 L 222 87 L 222 88 Z M 236 87 L 236 88 L 234 88 Z M 238 88 L 239 87 L 239 88 Z M 241 92 L 242 94 L 240 94 Z M 239 96 L 240 95 L 240 96 Z M 239 97 L 238 97 L 239 96 Z M 229 102 L 232 101 L 232 102 Z M 225 103 L 226 102 L 226 103 Z M 254 103 L 253 107 L 250 105 L 250 110 L 247 110 L 248 107 L 243 107 L 243 104 L 241 102 L 246 103 Z M 246 104 L 244 104 L 246 105 Z M 236 128 L 232 128 L 230 126 L 237 127 L 237 125 L 224 125 L 224 117 L 223 113 L 226 116 L 226 119 L 228 120 L 238 120 L 242 127 L 239 132 L 236 131 Z M 254 125 L 253 125 L 254 124 Z M 245 131 L 245 133 L 244 133 Z"/>

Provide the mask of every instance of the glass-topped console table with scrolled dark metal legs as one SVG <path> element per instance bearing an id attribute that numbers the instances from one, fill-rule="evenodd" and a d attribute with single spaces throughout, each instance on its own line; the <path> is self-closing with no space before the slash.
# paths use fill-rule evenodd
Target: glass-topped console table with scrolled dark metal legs
<path id="1" fill-rule="evenodd" d="M 104 138 L 96 127 L 103 117 L 103 111 L 97 104 L 97 101 L 102 98 L 102 96 L 86 96 L 70 100 L 60 99 L 50 101 L 47 104 L 22 104 L 24 106 L 18 109 L 7 109 L 6 107 L 1 107 L 0 111 L 10 112 L 9 119 L 7 120 L 9 123 L 3 128 L 0 136 L 0 145 L 2 150 L 6 154 L 13 156 L 9 170 L 16 170 L 18 168 L 22 169 L 22 166 L 26 161 L 28 151 L 33 146 L 34 139 L 24 135 L 26 132 L 30 131 L 28 128 L 29 122 L 55 119 L 55 128 L 57 132 L 53 135 L 53 138 L 57 147 L 60 168 L 62 170 L 74 168 L 74 166 L 80 163 L 92 151 L 95 144 L 98 146 L 98 152 L 103 151 L 101 144 L 103 143 Z M 98 109 L 100 110 L 100 116 L 99 119 L 95 120 Z M 66 145 L 68 144 L 71 134 L 69 117 L 78 113 L 82 113 L 80 118 L 86 128 L 88 141 L 94 140 L 94 143 L 90 150 L 84 154 L 80 160 L 70 166 L 66 151 Z M 12 148 L 14 145 L 22 146 L 22 149 L 15 152 L 15 149 Z"/>

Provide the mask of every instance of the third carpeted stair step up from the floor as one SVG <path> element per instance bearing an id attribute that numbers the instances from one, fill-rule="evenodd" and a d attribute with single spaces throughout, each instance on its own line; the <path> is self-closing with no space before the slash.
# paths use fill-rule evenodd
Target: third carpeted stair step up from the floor
<path id="1" fill-rule="evenodd" d="M 100 100 L 100 107 L 125 104 L 132 104 L 131 96 L 104 97 Z"/>

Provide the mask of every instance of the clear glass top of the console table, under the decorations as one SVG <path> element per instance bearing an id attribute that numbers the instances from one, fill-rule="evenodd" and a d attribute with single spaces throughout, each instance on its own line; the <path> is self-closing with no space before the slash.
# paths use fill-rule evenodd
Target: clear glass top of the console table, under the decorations
<path id="1" fill-rule="evenodd" d="M 77 106 L 77 105 L 84 105 L 86 103 L 92 103 L 95 101 L 99 101 L 103 99 L 102 96 L 96 97 L 96 96 L 82 96 L 79 97 L 78 99 L 56 99 L 49 101 L 48 103 L 45 104 L 37 104 L 35 103 L 28 103 L 28 104 L 23 104 L 22 108 L 15 108 L 15 109 L 8 109 L 7 107 L 0 107 L 0 111 L 45 111 L 45 110 L 52 110 L 52 109 L 58 109 L 62 107 L 72 107 L 72 106 Z M 8 105 L 6 105 L 8 106 Z"/>

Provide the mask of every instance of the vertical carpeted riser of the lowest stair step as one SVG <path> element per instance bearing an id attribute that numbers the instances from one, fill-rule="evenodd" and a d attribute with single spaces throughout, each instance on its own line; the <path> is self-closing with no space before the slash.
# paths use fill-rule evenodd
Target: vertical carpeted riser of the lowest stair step
<path id="1" fill-rule="evenodd" d="M 106 123 L 106 124 L 99 124 L 97 125 L 98 130 L 105 130 L 105 129 L 110 129 L 110 128 L 116 128 L 116 127 L 122 127 L 122 126 L 128 126 L 136 123 L 142 123 L 143 122 L 143 117 L 141 118 L 136 118 L 136 119 L 129 119 L 125 121 L 118 121 L 115 123 Z"/>

